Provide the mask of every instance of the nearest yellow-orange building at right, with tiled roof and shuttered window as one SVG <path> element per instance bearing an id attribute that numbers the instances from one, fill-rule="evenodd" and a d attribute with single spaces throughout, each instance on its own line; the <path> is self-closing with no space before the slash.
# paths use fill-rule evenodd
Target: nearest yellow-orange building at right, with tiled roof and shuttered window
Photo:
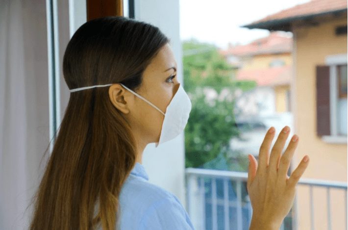
<path id="1" fill-rule="evenodd" d="M 301 179 L 347 183 L 347 1 L 312 0 L 244 27 L 293 32 L 292 111 L 299 143 L 292 171 L 308 154 Z M 297 191 L 298 230 L 347 229 L 347 187 L 315 186 L 311 197 L 309 186 Z"/>

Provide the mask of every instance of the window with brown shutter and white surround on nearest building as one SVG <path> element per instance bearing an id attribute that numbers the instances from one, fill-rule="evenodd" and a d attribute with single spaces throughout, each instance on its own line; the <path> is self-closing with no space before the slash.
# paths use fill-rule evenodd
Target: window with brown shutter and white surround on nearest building
<path id="1" fill-rule="evenodd" d="M 329 55 L 316 68 L 317 134 L 328 143 L 347 143 L 347 54 Z"/>

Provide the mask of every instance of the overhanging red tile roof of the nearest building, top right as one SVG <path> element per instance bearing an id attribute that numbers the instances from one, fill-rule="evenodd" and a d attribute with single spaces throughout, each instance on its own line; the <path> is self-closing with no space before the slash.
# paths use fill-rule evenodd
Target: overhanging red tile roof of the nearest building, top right
<path id="1" fill-rule="evenodd" d="M 288 24 L 295 19 L 330 14 L 333 12 L 347 13 L 347 0 L 311 0 L 268 15 L 263 19 L 242 27 L 290 31 Z"/>

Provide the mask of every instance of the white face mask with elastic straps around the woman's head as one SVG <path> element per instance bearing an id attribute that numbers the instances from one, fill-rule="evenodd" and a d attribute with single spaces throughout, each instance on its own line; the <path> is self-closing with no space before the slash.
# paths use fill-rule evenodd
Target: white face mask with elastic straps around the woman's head
<path id="1" fill-rule="evenodd" d="M 121 84 L 121 83 L 120 83 Z M 94 85 L 94 86 L 87 86 L 82 88 L 76 88 L 70 90 L 70 92 L 75 92 L 79 90 L 84 89 L 90 89 L 94 87 L 104 87 L 109 86 L 112 84 L 107 85 Z M 177 137 L 185 128 L 187 121 L 189 119 L 189 115 L 191 112 L 191 101 L 188 95 L 186 94 L 185 90 L 182 88 L 181 84 L 179 85 L 178 90 L 176 91 L 172 101 L 167 106 L 166 112 L 164 113 L 161 111 L 156 105 L 149 102 L 133 90 L 127 88 L 124 86 L 124 84 L 121 84 L 125 89 L 127 89 L 129 92 L 137 96 L 138 98 L 144 100 L 145 102 L 149 103 L 152 107 L 154 107 L 156 110 L 158 110 L 160 113 L 164 115 L 164 120 L 162 123 L 161 128 L 161 134 L 159 137 L 159 141 L 156 142 L 156 148 L 159 144 L 162 144 L 166 141 L 172 140 L 175 137 Z"/>

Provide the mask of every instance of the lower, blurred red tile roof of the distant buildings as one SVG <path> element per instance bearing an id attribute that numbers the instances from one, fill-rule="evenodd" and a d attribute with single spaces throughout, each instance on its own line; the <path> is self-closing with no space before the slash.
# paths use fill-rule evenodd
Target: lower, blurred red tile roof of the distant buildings
<path id="1" fill-rule="evenodd" d="M 292 66 L 273 67 L 258 70 L 239 70 L 238 80 L 255 80 L 258 86 L 276 86 L 290 84 Z"/>

